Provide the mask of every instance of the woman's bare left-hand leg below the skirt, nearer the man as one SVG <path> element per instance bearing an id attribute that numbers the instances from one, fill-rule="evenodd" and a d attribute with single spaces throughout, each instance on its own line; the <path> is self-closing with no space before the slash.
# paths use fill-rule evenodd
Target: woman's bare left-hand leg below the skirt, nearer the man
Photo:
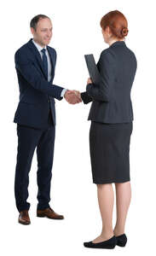
<path id="1" fill-rule="evenodd" d="M 93 242 L 101 242 L 110 239 L 113 234 L 113 186 L 112 183 L 97 185 L 98 202 L 101 211 L 102 230 L 101 235 Z"/>

